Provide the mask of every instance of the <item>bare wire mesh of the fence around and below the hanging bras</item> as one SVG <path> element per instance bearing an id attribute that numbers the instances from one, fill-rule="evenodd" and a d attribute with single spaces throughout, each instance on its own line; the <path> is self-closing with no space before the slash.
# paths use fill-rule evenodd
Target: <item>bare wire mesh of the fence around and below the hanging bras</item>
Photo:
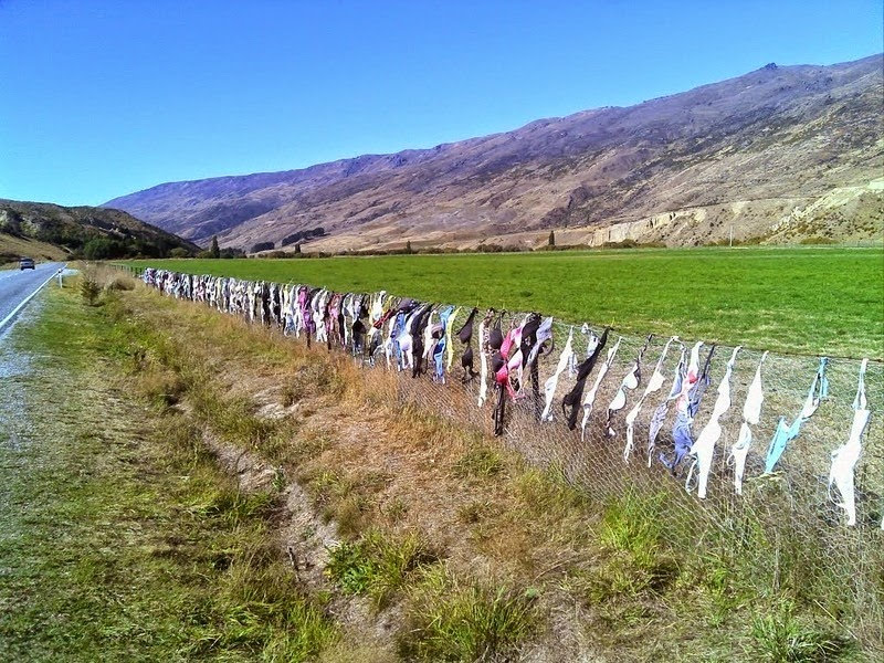
<path id="1" fill-rule="evenodd" d="M 136 276 L 144 275 L 144 270 L 129 270 Z M 208 282 L 214 277 L 199 278 Z M 170 294 L 170 288 L 166 291 Z M 219 308 L 224 309 L 224 306 Z M 466 346 L 457 339 L 456 332 L 469 312 L 470 307 L 462 307 L 454 322 L 455 334 L 451 340 L 455 358 L 444 382 L 432 379 L 432 368 L 418 378 L 412 378 L 410 370 L 400 371 L 398 396 L 402 403 L 414 403 L 493 434 L 497 392 L 491 375 L 488 398 L 483 407 L 477 404 L 480 377 L 466 382 L 462 380 L 460 357 Z M 475 317 L 471 343 L 476 370 L 480 367 L 476 335 L 484 313 L 480 311 Z M 517 325 L 524 316 L 524 313 L 504 314 L 504 333 L 508 324 Z M 282 328 L 278 320 L 267 322 Z M 591 327 L 591 330 L 597 335 L 602 333 L 599 327 Z M 383 332 L 386 335 L 386 325 Z M 803 423 L 799 436 L 789 442 L 775 471 L 765 474 L 767 448 L 780 417 L 785 417 L 788 424 L 798 417 L 819 367 L 817 357 L 767 356 L 761 369 L 761 414 L 758 423 L 751 427 L 753 444 L 746 457 L 743 494 L 737 495 L 728 452 L 737 441 L 744 402 L 762 356 L 756 349 L 740 349 L 729 381 L 732 404 L 719 419 L 722 435 L 715 445 L 707 495 L 701 499 L 696 488 L 686 490 L 691 461 L 685 460 L 673 471 L 659 457 L 660 453 L 672 450 L 674 404 L 669 409 L 656 449 L 651 454 L 648 451 L 651 417 L 670 393 L 682 348 L 690 352 L 693 341 L 681 339 L 670 346 L 661 366 L 665 382 L 644 400 L 634 421 L 635 444 L 629 456 L 624 457 L 624 420 L 644 392 L 667 337 L 654 336 L 649 340 L 613 330 L 610 333 L 608 345 L 587 379 L 585 394 L 594 385 L 608 351 L 618 340 L 619 348 L 599 383 L 585 436 L 580 425 L 582 408 L 576 430 L 568 429 L 561 410 L 562 397 L 575 385 L 570 370 L 562 372 L 558 380 L 551 421 L 538 421 L 544 407 L 544 383 L 556 371 L 566 339 L 572 334 L 579 362 L 587 356 L 590 336 L 586 332 L 587 327 L 581 324 L 554 322 L 554 347 L 541 354 L 537 361 L 539 388 L 533 388 L 526 370 L 528 383 L 522 391 L 526 396 L 516 401 L 507 400 L 502 443 L 522 454 L 529 464 L 561 473 L 570 484 L 600 505 L 628 502 L 630 513 L 636 518 L 654 522 L 672 548 L 693 547 L 701 556 L 715 555 L 728 560 L 734 572 L 739 568 L 754 573 L 760 588 L 775 591 L 788 585 L 799 597 L 815 603 L 849 631 L 863 629 L 863 640 L 871 639 L 881 644 L 884 640 L 884 364 L 870 361 L 865 372 L 867 408 L 872 413 L 854 472 L 856 525 L 849 527 L 844 509 L 836 504 L 840 495 L 834 488 L 830 492 L 829 471 L 832 452 L 848 441 L 851 431 L 859 360 L 829 360 L 825 373 L 828 397 Z M 304 343 L 303 336 L 299 341 Z M 612 413 L 609 422 L 608 406 L 645 344 L 646 349 L 639 361 L 640 383 L 625 391 L 625 406 Z M 701 367 L 708 350 L 706 346 L 701 350 Z M 715 348 L 709 364 L 709 383 L 692 425 L 694 440 L 709 421 L 716 390 L 733 350 L 733 347 Z M 376 358 L 372 360 L 365 352 L 354 356 L 354 360 L 366 370 L 397 370 L 388 368 L 386 358 L 380 355 Z M 609 433 L 609 428 L 613 434 Z"/>

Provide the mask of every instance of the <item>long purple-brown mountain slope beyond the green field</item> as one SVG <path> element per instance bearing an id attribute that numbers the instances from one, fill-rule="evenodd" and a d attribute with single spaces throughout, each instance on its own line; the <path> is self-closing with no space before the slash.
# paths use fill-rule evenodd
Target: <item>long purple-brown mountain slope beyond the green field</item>
<path id="1" fill-rule="evenodd" d="M 164 183 L 104 207 L 200 244 L 536 248 L 880 239 L 884 59 L 768 64 L 630 107 L 299 170 Z M 579 84 L 579 82 L 575 82 Z"/>

